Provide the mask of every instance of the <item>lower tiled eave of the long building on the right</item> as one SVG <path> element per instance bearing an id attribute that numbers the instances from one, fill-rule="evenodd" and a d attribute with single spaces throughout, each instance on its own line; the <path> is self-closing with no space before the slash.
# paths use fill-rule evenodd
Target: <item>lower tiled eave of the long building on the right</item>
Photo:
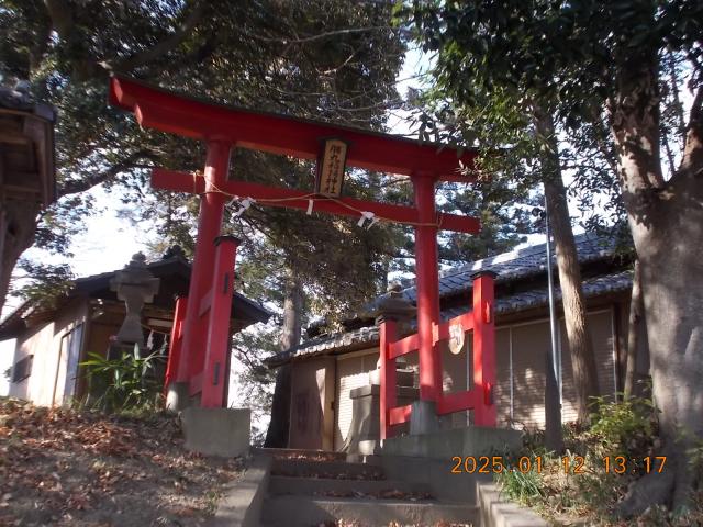
<path id="1" fill-rule="evenodd" d="M 628 291 L 632 288 L 632 272 L 621 271 L 612 274 L 602 274 L 583 281 L 583 294 L 587 298 L 600 296 L 609 293 Z M 556 300 L 561 299 L 561 291 L 555 289 Z M 546 288 L 533 289 L 510 296 L 498 298 L 495 302 L 495 314 L 506 315 L 525 311 L 532 307 L 546 305 L 548 292 Z M 469 306 L 460 306 L 443 310 L 440 313 L 443 321 L 448 321 L 455 316 L 469 311 Z M 361 327 L 353 332 L 337 333 L 324 337 L 310 339 L 297 348 L 292 348 L 282 354 L 275 355 L 265 360 L 269 367 L 275 367 L 288 362 L 293 357 L 322 355 L 326 351 L 352 351 L 376 346 L 378 344 L 378 326 Z"/>

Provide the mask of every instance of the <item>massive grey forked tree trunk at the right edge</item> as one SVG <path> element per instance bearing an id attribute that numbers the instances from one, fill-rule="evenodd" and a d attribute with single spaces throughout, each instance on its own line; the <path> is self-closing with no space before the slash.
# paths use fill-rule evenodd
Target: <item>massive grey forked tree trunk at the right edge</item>
<path id="1" fill-rule="evenodd" d="M 661 411 L 659 453 L 667 456 L 663 473 L 631 489 L 620 508 L 624 515 L 656 503 L 685 506 L 701 482 L 687 450 L 703 439 L 703 92 L 693 102 L 682 165 L 665 181 L 657 72 L 656 49 L 638 49 L 622 67 L 610 103 L 623 199 L 641 265 L 652 396 Z"/>

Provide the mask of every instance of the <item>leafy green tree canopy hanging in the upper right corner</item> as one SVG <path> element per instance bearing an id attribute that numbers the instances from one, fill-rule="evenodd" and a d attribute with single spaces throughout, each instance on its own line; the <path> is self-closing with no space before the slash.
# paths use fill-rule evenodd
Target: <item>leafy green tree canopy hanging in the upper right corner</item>
<path id="1" fill-rule="evenodd" d="M 484 168 L 529 176 L 531 159 L 544 149 L 526 117 L 535 108 L 554 117 L 561 168 L 573 178 L 569 194 L 589 229 L 625 215 L 607 111 L 618 76 L 659 59 L 652 105 L 660 106 L 660 143 L 673 173 L 685 130 L 679 92 L 703 82 L 701 2 L 415 0 L 399 18 L 436 54 L 429 97 L 439 122 L 449 115 L 450 127 L 472 132 Z"/>

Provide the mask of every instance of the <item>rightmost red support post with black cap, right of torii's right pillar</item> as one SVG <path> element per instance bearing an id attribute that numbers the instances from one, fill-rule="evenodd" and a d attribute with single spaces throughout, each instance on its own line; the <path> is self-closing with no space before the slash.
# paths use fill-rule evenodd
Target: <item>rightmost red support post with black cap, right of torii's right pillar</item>
<path id="1" fill-rule="evenodd" d="M 478 426 L 495 427 L 495 327 L 493 280 L 490 271 L 473 274 L 473 389 L 479 392 L 473 410 Z"/>

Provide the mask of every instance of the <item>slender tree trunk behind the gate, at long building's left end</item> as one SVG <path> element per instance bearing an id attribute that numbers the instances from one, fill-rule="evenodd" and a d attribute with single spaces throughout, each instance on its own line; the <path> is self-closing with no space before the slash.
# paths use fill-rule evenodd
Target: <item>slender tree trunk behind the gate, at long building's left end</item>
<path id="1" fill-rule="evenodd" d="M 283 328 L 280 339 L 281 351 L 300 343 L 303 314 L 303 288 L 291 269 L 287 271 L 286 296 L 283 299 Z M 290 428 L 291 366 L 283 365 L 276 373 L 276 388 L 271 402 L 271 421 L 266 433 L 265 447 L 286 448 Z"/>

